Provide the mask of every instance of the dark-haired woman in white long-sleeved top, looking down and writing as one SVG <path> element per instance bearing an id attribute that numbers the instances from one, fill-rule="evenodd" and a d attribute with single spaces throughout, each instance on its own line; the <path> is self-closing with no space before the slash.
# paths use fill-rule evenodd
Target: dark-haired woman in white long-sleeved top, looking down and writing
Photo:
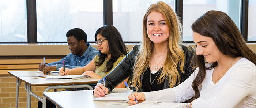
<path id="1" fill-rule="evenodd" d="M 177 87 L 135 93 L 136 99 L 183 102 L 195 96 L 189 108 L 256 108 L 256 55 L 236 24 L 224 12 L 208 11 L 192 30 L 195 72 Z M 129 105 L 135 104 L 134 97 L 128 98 Z"/>

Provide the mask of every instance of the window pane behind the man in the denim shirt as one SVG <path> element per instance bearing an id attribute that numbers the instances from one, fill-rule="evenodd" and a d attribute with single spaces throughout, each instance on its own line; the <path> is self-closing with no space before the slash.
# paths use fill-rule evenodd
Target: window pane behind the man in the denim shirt
<path id="1" fill-rule="evenodd" d="M 81 28 L 87 41 L 103 26 L 103 0 L 37 0 L 37 41 L 66 42 L 66 33 Z"/>

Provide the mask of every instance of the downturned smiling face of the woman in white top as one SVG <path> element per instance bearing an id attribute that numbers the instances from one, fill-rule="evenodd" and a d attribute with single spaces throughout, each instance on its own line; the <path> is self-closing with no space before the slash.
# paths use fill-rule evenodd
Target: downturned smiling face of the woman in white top
<path id="1" fill-rule="evenodd" d="M 223 54 L 219 51 L 211 37 L 193 32 L 193 41 L 197 45 L 196 55 L 203 55 L 208 63 L 216 62 L 223 57 Z"/>

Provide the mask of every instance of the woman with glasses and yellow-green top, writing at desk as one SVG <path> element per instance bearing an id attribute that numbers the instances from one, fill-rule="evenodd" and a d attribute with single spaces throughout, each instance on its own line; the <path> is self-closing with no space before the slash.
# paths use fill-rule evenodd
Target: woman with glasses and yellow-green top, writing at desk
<path id="1" fill-rule="evenodd" d="M 95 33 L 95 41 L 99 47 L 99 54 L 84 67 L 66 69 L 65 75 L 87 75 L 91 78 L 102 79 L 109 74 L 125 57 L 128 52 L 121 34 L 112 25 L 105 25 L 99 28 Z M 59 75 L 64 75 L 63 68 Z M 128 78 L 126 78 L 127 82 Z M 122 83 L 117 88 L 124 88 Z"/>

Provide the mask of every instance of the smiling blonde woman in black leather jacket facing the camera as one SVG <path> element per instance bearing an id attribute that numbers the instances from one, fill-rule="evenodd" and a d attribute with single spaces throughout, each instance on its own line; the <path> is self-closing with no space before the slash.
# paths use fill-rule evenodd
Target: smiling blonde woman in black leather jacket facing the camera
<path id="1" fill-rule="evenodd" d="M 181 24 L 175 12 L 164 2 L 152 4 L 143 19 L 142 43 L 106 76 L 106 89 L 103 79 L 99 80 L 94 96 L 108 94 L 128 77 L 137 92 L 177 86 L 193 72 L 190 63 L 194 49 L 180 42 Z"/>

